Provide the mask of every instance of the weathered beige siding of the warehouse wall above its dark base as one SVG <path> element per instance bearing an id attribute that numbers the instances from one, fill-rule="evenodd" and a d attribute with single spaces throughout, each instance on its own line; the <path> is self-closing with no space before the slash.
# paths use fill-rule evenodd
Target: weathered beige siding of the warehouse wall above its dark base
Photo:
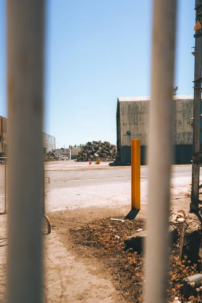
<path id="1" fill-rule="evenodd" d="M 192 97 L 190 95 L 190 97 Z M 193 141 L 190 118 L 193 117 L 193 99 L 174 98 L 174 144 L 189 145 Z M 201 109 L 202 113 L 202 109 Z M 148 100 L 120 102 L 121 146 L 131 146 L 131 139 L 140 139 L 147 145 Z M 128 136 L 127 131 L 131 132 Z"/>

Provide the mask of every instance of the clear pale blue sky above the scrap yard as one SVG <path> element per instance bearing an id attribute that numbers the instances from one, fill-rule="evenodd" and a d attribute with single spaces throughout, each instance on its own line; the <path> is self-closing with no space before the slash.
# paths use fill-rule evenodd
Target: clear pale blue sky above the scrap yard
<path id="1" fill-rule="evenodd" d="M 150 95 L 152 1 L 46 4 L 44 131 L 56 136 L 57 147 L 116 143 L 117 97 Z M 193 93 L 194 13 L 194 0 L 179 1 L 178 94 Z M 5 0 L 0 0 L 0 45 L 0 116 L 7 116 Z"/>

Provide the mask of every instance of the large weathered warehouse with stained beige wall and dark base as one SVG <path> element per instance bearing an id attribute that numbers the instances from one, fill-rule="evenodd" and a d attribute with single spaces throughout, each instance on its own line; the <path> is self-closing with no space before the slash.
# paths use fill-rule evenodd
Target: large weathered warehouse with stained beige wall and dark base
<path id="1" fill-rule="evenodd" d="M 131 162 L 131 139 L 140 139 L 141 165 L 146 164 L 149 100 L 150 97 L 117 99 L 117 151 L 123 163 Z M 190 125 L 190 119 L 193 117 L 193 95 L 173 96 L 173 103 L 174 164 L 190 164 L 193 141 L 193 129 Z"/>

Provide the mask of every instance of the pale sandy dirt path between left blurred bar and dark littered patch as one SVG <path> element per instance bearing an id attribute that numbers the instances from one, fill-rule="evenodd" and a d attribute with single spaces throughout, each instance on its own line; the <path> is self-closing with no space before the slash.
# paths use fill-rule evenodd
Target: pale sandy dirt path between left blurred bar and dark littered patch
<path id="1" fill-rule="evenodd" d="M 98 212 L 97 212 L 98 211 Z M 112 212 L 114 215 L 114 211 Z M 84 209 L 63 211 L 48 214 L 52 221 L 52 235 L 54 253 L 51 259 L 47 258 L 46 275 L 47 302 L 125 302 L 121 291 L 117 291 L 113 279 L 105 265 L 94 256 L 84 254 L 70 235 L 70 229 L 80 228 L 93 218 L 100 219 L 109 216 L 108 209 Z M 116 211 L 121 216 L 121 210 Z M 48 235 L 49 237 L 49 235 Z M 55 241 L 57 238 L 57 242 Z M 50 244 L 51 240 L 47 239 Z M 58 244 L 60 245 L 58 246 Z M 61 246 L 63 245 L 63 248 Z M 58 246 L 58 247 L 57 247 Z M 87 249 L 84 249 L 87 252 Z M 58 254 L 57 254 L 58 252 Z M 48 256 L 48 246 L 45 255 Z M 57 255 L 58 256 L 57 256 Z M 53 260 L 54 255 L 54 260 Z M 49 260 L 48 260 L 49 259 Z M 65 262 L 65 260 L 67 262 Z M 58 276 L 57 293 L 51 290 Z M 53 282 L 52 282 L 53 281 Z M 56 285 L 56 284 L 54 284 Z"/>

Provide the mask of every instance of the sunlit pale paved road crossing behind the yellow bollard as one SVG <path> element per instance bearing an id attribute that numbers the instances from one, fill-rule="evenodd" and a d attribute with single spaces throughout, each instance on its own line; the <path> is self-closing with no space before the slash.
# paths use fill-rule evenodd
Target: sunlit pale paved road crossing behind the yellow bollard
<path id="1" fill-rule="evenodd" d="M 0 197 L 4 198 L 4 169 L 0 166 Z M 46 207 L 48 211 L 89 206 L 117 207 L 130 204 L 130 167 L 99 166 L 73 161 L 45 163 Z M 141 167 L 141 203 L 146 204 L 148 167 Z M 46 179 L 47 182 L 47 179 Z M 173 197 L 187 194 L 191 183 L 191 165 L 173 166 L 171 192 Z"/>

